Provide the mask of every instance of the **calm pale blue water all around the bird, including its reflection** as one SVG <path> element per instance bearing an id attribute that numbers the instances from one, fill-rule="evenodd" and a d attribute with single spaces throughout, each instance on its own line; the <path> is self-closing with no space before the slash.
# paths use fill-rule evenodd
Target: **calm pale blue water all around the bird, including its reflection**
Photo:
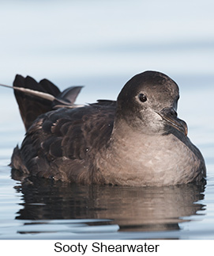
<path id="1" fill-rule="evenodd" d="M 163 188 L 21 184 L 8 164 L 24 126 L 13 92 L 0 88 L 0 239 L 214 239 L 213 1 L 0 6 L 1 83 L 21 74 L 84 85 L 84 103 L 115 99 L 133 75 L 162 71 L 180 86 L 178 116 L 208 171 L 206 184 Z"/>

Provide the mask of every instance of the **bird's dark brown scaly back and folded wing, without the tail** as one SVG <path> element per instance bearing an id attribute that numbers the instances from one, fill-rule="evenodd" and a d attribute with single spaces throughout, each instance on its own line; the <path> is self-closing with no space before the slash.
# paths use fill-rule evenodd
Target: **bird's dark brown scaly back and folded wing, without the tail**
<path id="1" fill-rule="evenodd" d="M 114 117 L 114 101 L 45 113 L 13 151 L 11 166 L 27 175 L 91 183 L 92 158 L 107 147 Z"/>

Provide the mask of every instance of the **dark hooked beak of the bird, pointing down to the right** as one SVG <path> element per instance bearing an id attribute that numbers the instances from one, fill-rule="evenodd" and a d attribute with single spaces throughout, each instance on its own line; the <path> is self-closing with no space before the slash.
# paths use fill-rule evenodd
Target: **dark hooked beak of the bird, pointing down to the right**
<path id="1" fill-rule="evenodd" d="M 167 124 L 176 128 L 178 131 L 184 133 L 187 136 L 188 128 L 185 121 L 179 119 L 177 112 L 174 108 L 164 108 L 160 112 L 157 112 L 163 120 L 167 121 Z"/>

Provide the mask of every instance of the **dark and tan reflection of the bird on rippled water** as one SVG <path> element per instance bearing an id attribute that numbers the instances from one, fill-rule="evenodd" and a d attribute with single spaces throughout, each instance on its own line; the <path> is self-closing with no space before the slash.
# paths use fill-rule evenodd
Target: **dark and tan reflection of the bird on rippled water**
<path id="1" fill-rule="evenodd" d="M 205 209 L 198 202 L 204 198 L 205 185 L 88 186 L 31 178 L 16 189 L 23 193 L 17 219 L 104 219 L 110 220 L 106 224 L 117 224 L 119 231 L 178 230 L 178 224 L 186 221 L 183 217 Z"/>

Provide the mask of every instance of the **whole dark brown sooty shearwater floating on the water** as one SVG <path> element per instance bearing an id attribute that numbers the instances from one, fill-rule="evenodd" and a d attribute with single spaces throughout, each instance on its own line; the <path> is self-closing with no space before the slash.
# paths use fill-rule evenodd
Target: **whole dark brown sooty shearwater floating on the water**
<path id="1" fill-rule="evenodd" d="M 203 156 L 177 117 L 178 86 L 167 75 L 145 71 L 117 101 L 88 105 L 73 104 L 80 86 L 61 93 L 47 79 L 17 75 L 13 89 L 27 132 L 11 166 L 23 177 L 161 186 L 206 175 Z"/>

